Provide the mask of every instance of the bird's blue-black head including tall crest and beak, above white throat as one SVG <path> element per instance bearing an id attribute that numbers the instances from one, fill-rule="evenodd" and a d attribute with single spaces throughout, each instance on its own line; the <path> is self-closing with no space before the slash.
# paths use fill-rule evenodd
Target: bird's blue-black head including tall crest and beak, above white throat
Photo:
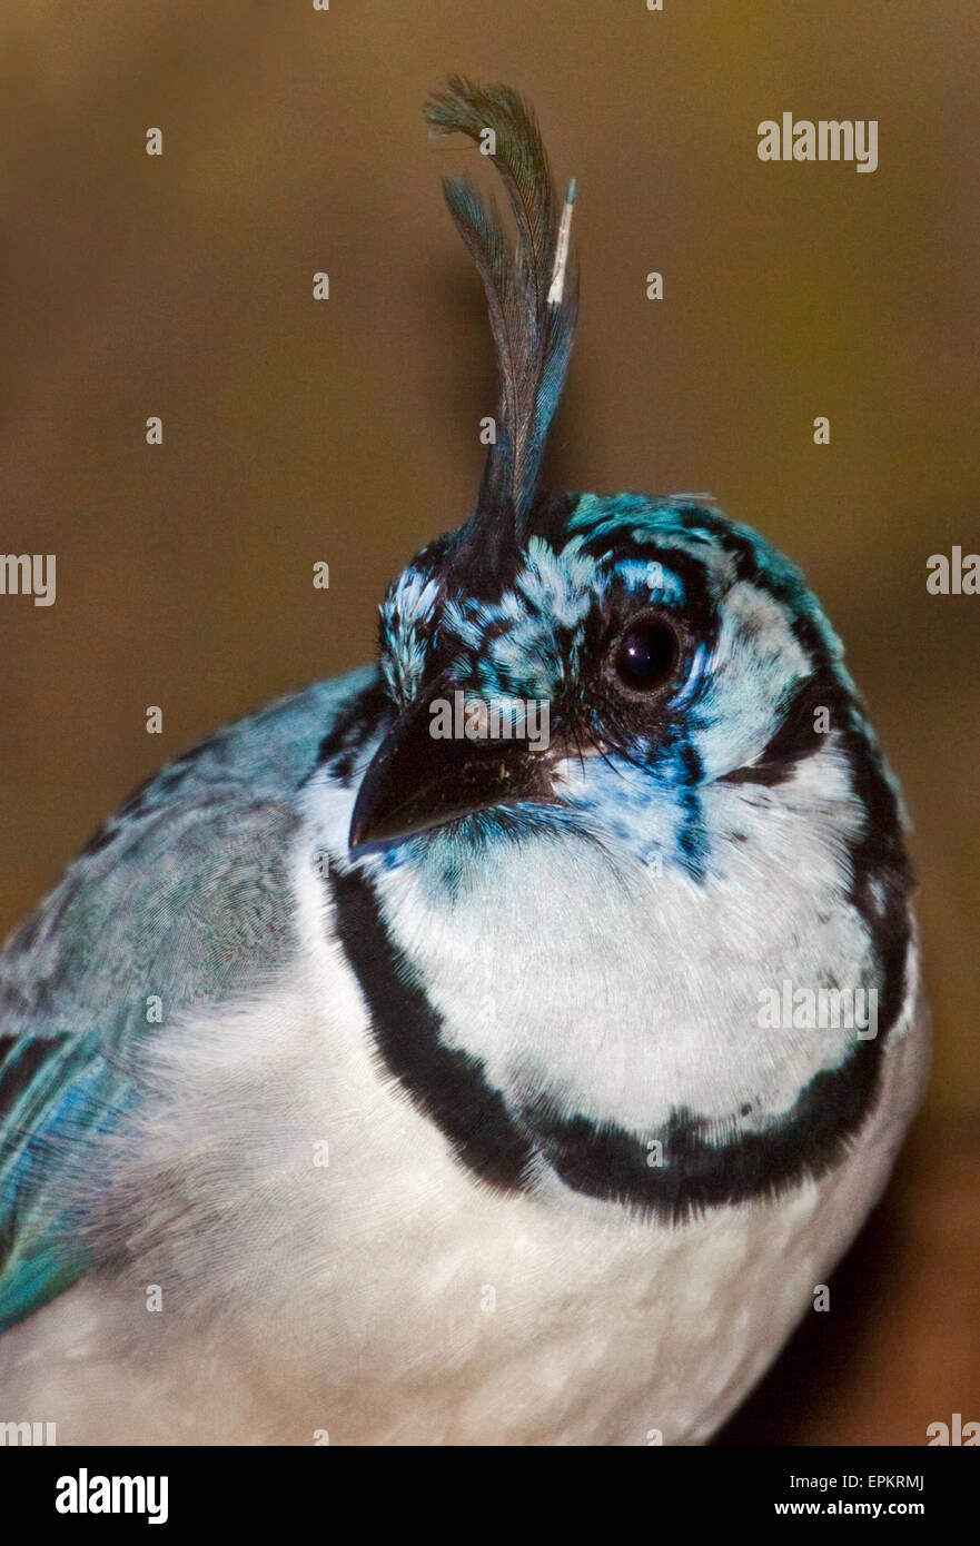
<path id="1" fill-rule="evenodd" d="M 351 847 L 573 833 L 697 878 L 726 836 L 747 839 L 740 807 L 757 815 L 761 792 L 791 779 L 815 819 L 833 807 L 847 824 L 850 765 L 873 773 L 876 750 L 799 572 L 708 496 L 538 493 L 577 314 L 575 184 L 558 201 L 535 117 L 505 87 L 451 79 L 427 111 L 436 131 L 493 136 L 516 247 L 468 179 L 447 181 L 488 300 L 496 436 L 471 518 L 382 606 L 390 728 Z"/>

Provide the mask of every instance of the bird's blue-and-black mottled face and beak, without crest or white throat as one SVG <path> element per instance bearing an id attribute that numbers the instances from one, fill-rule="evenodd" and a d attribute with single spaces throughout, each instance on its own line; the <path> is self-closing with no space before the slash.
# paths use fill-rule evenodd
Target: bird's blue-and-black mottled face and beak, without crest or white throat
<path id="1" fill-rule="evenodd" d="M 716 844 L 745 839 L 740 805 L 790 781 L 805 799 L 812 758 L 815 807 L 835 781 L 847 802 L 867 727 L 839 645 L 748 529 L 691 496 L 546 498 L 512 572 L 476 594 L 453 544 L 420 553 L 383 606 L 397 714 L 354 846 L 575 832 L 697 878 Z"/>

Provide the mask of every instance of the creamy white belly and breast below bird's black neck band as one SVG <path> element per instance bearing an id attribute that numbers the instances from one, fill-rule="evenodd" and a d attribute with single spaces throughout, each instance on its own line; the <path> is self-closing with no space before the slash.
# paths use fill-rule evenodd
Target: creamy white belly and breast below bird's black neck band
<path id="1" fill-rule="evenodd" d="M 352 985 L 314 1016 L 320 986 L 187 1028 L 116 1200 L 125 1266 L 0 1339 L 0 1419 L 60 1444 L 703 1442 L 873 1206 L 926 1059 L 924 1030 L 895 1037 L 821 1183 L 624 1223 L 478 1187 L 379 1081 Z"/>

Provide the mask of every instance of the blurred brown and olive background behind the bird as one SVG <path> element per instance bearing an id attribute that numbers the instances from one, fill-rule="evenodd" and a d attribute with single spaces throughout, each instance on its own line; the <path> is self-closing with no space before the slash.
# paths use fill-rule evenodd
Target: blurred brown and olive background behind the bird
<path id="1" fill-rule="evenodd" d="M 53 608 L 0 597 L 3 931 L 164 758 L 365 660 L 388 578 L 468 513 L 493 374 L 439 176 L 484 169 L 427 142 L 447 70 L 522 88 L 580 181 L 547 482 L 711 490 L 844 635 L 915 818 L 935 1081 L 832 1314 L 731 1442 L 980 1419 L 980 597 L 926 594 L 931 553 L 980 549 L 978 66 L 975 0 L 0 19 L 0 546 L 57 553 Z M 878 119 L 878 170 L 761 162 L 784 110 Z"/>

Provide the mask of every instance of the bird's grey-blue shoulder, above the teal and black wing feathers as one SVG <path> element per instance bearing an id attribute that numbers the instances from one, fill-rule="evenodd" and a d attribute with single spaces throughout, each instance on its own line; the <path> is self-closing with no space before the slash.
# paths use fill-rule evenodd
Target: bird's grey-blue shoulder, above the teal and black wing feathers
<path id="1" fill-rule="evenodd" d="M 284 855 L 323 737 L 374 680 L 356 671 L 219 730 L 99 829 L 0 954 L 0 1037 L 83 1031 L 136 988 L 221 993 L 281 959 Z"/>

